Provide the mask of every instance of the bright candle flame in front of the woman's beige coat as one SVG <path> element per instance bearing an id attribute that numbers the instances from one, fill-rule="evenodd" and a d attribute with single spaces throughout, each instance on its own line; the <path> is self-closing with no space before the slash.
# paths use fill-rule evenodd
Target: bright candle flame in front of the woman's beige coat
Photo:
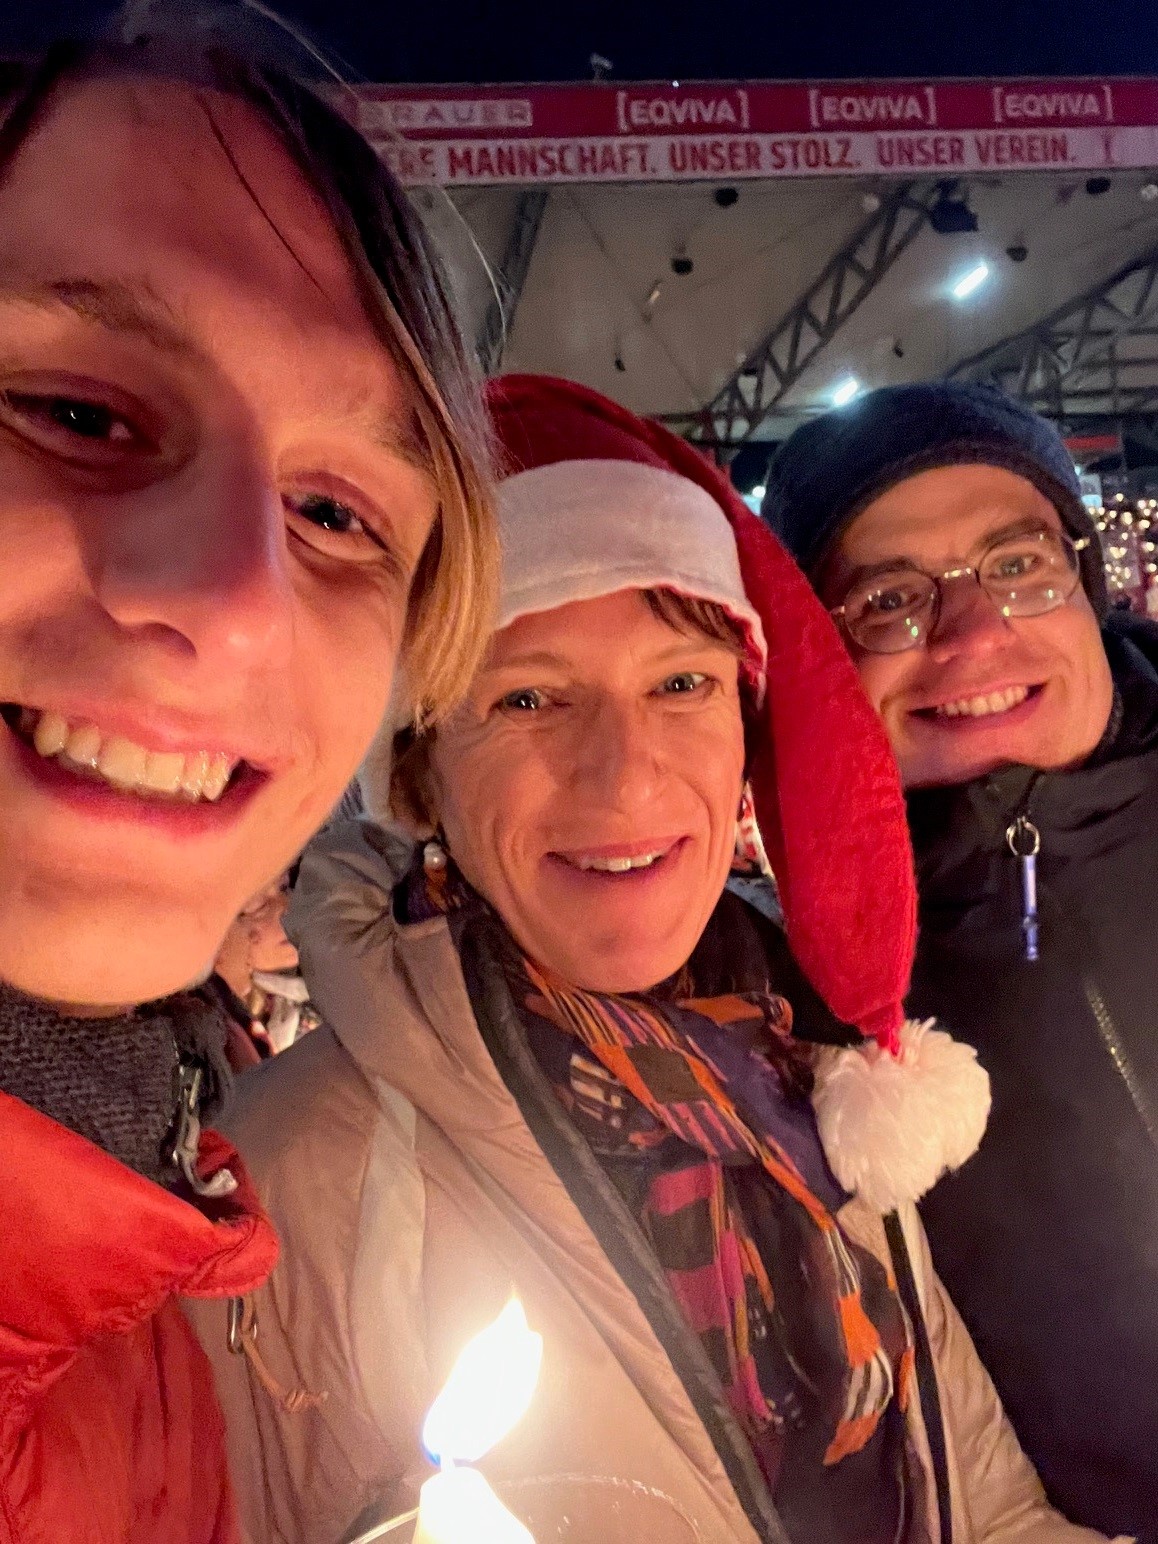
<path id="1" fill-rule="evenodd" d="M 527 1414 L 539 1382 L 543 1337 L 517 1297 L 468 1340 L 431 1405 L 422 1442 L 435 1464 L 476 1464 Z"/>

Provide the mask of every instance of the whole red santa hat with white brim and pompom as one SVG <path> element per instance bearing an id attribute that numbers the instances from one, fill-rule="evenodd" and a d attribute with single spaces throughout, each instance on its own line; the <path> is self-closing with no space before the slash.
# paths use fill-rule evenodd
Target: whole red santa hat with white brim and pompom
<path id="1" fill-rule="evenodd" d="M 917 926 L 905 803 L 832 619 L 686 440 L 545 375 L 499 377 L 488 403 L 503 477 L 500 627 L 568 601 L 670 588 L 716 601 L 744 630 L 763 689 L 750 784 L 789 943 L 869 1042 L 868 1056 L 832 1058 L 820 1079 L 821 1135 L 849 1189 L 882 1207 L 920 1194 L 976 1147 L 988 1084 L 967 1047 L 905 1022 Z M 897 1126 L 903 1153 L 889 1139 Z M 914 1141 L 925 1150 L 911 1152 Z"/>

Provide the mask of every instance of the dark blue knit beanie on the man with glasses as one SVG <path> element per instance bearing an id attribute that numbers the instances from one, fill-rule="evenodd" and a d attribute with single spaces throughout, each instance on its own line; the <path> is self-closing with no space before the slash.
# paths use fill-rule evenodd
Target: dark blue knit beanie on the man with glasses
<path id="1" fill-rule="evenodd" d="M 917 472 L 962 463 L 1004 466 L 1041 489 L 1081 553 L 1098 616 L 1109 608 L 1093 519 L 1061 435 L 993 386 L 925 381 L 882 386 L 801 425 L 772 457 L 763 516 L 800 567 L 817 565 L 860 511 Z"/>

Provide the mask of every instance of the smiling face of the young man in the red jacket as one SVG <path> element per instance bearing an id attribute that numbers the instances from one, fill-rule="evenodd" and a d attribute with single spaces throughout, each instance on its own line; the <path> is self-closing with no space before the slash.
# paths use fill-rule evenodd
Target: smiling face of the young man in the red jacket
<path id="1" fill-rule="evenodd" d="M 65 90 L 0 181 L 0 979 L 120 1005 L 208 967 L 374 736 L 434 513 L 273 134 Z"/>

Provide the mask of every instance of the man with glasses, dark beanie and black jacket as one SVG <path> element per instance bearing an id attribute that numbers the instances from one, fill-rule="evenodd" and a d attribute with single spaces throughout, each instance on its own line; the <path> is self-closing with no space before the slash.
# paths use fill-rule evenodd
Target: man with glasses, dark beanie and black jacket
<path id="1" fill-rule="evenodd" d="M 869 392 L 777 454 L 764 516 L 889 733 L 920 885 L 909 1008 L 993 1082 L 923 1203 L 1050 1499 L 1158 1541 L 1158 628 L 1109 616 L 1050 425 Z"/>

